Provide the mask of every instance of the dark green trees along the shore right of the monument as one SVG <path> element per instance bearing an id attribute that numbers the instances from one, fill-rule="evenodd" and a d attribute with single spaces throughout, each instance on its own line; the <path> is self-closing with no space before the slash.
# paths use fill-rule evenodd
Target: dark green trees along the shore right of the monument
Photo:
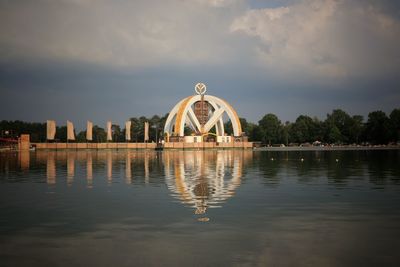
<path id="1" fill-rule="evenodd" d="M 282 123 L 272 113 L 266 114 L 258 124 L 241 118 L 243 131 L 251 141 L 266 145 L 303 144 L 315 141 L 327 144 L 388 144 L 400 141 L 400 109 L 389 116 L 383 111 L 368 114 L 367 121 L 361 115 L 351 116 L 341 109 L 327 114 L 325 120 L 300 115 L 294 122 Z M 226 124 L 231 133 L 230 123 Z"/>

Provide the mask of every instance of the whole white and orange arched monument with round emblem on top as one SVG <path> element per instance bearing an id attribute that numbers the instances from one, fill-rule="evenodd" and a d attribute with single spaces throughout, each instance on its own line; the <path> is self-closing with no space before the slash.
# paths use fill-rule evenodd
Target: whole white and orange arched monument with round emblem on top
<path id="1" fill-rule="evenodd" d="M 197 143 L 209 135 L 214 135 L 219 143 L 241 141 L 242 126 L 232 106 L 221 98 L 207 95 L 204 83 L 196 84 L 195 91 L 195 95 L 179 101 L 169 113 L 164 128 L 166 142 Z M 233 136 L 225 134 L 224 116 L 232 123 Z M 192 130 L 191 135 L 185 136 L 185 127 Z M 211 133 L 212 129 L 215 133 Z"/>

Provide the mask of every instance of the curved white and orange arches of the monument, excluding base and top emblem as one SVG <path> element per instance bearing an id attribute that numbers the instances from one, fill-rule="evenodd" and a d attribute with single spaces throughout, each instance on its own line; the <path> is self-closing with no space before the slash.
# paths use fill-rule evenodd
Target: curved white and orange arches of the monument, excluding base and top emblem
<path id="1" fill-rule="evenodd" d="M 240 124 L 239 117 L 236 111 L 229 105 L 225 100 L 215 96 L 204 95 L 204 101 L 210 103 L 213 107 L 214 112 L 208 122 L 201 127 L 192 106 L 195 102 L 201 101 L 202 96 L 189 96 L 181 100 L 171 110 L 164 127 L 164 133 L 178 136 L 184 136 L 185 124 L 189 124 L 202 134 L 208 133 L 212 127 L 216 126 L 217 135 L 224 135 L 224 122 L 223 115 L 227 114 L 230 121 L 232 122 L 234 136 L 240 136 L 242 134 L 242 127 Z"/>

